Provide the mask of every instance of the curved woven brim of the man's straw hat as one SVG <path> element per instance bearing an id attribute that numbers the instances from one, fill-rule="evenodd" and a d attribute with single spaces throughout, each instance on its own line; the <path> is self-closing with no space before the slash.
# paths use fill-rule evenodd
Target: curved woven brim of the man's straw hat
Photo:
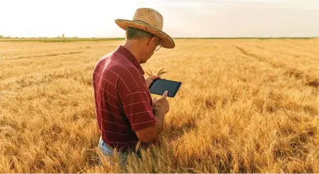
<path id="1" fill-rule="evenodd" d="M 170 36 L 168 36 L 168 34 L 150 25 L 147 25 L 139 21 L 130 21 L 126 19 L 116 19 L 115 23 L 121 29 L 124 29 L 124 30 L 126 30 L 128 27 L 134 27 L 134 28 L 142 29 L 143 31 L 149 32 L 151 34 L 154 34 L 155 36 L 158 36 L 158 38 L 161 38 L 160 40 L 161 47 L 164 47 L 166 49 L 172 49 L 175 47 L 174 40 Z"/>

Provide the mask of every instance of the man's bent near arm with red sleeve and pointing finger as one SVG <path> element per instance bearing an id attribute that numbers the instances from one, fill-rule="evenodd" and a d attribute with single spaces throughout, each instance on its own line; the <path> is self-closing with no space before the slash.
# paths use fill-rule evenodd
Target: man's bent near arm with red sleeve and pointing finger
<path id="1" fill-rule="evenodd" d="M 163 130 L 164 115 L 168 112 L 167 92 L 152 107 L 149 95 L 143 88 L 135 88 L 120 95 L 123 110 L 128 116 L 132 130 L 143 142 L 152 142 Z M 169 107 L 168 107 L 169 108 Z"/>

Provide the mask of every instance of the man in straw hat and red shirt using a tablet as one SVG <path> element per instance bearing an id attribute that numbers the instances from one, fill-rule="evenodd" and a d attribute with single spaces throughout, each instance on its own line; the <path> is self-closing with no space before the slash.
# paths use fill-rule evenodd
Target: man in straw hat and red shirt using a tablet
<path id="1" fill-rule="evenodd" d="M 163 28 L 163 16 L 150 8 L 139 8 L 133 20 L 117 19 L 126 30 L 126 41 L 98 60 L 93 71 L 95 112 L 101 133 L 99 149 L 112 156 L 133 150 L 139 140 L 154 142 L 163 130 L 169 111 L 167 91 L 152 101 L 148 87 L 156 76 L 144 79 L 140 64 L 161 47 L 172 49 L 174 40 Z"/>

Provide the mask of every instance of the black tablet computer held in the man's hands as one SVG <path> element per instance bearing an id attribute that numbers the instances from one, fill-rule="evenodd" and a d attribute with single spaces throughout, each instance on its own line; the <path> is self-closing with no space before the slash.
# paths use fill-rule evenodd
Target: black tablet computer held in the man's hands
<path id="1" fill-rule="evenodd" d="M 182 82 L 175 82 L 167 79 L 154 79 L 149 90 L 154 95 L 163 95 L 165 90 L 167 90 L 167 97 L 175 97 L 180 85 L 182 85 Z"/>

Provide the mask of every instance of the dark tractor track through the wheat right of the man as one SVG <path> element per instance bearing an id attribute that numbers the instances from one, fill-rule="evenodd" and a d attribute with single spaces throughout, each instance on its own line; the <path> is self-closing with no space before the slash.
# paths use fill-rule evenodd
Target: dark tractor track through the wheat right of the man
<path id="1" fill-rule="evenodd" d="M 270 62 L 266 58 L 261 58 L 260 56 L 256 55 L 255 53 L 249 53 L 242 47 L 238 47 L 237 45 L 234 45 L 236 49 L 241 51 L 244 55 L 248 55 L 252 58 L 255 58 L 256 60 L 259 60 L 260 62 L 265 62 L 267 64 L 270 64 L 274 69 L 283 69 L 285 71 L 284 75 L 287 75 L 287 77 L 294 77 L 296 79 L 306 79 L 307 82 L 305 82 L 305 86 L 310 86 L 313 88 L 318 88 L 319 86 L 319 79 L 311 79 L 309 75 L 306 75 L 303 71 L 298 71 L 297 69 L 292 69 L 287 67 L 285 64 L 274 64 L 274 62 Z"/>

